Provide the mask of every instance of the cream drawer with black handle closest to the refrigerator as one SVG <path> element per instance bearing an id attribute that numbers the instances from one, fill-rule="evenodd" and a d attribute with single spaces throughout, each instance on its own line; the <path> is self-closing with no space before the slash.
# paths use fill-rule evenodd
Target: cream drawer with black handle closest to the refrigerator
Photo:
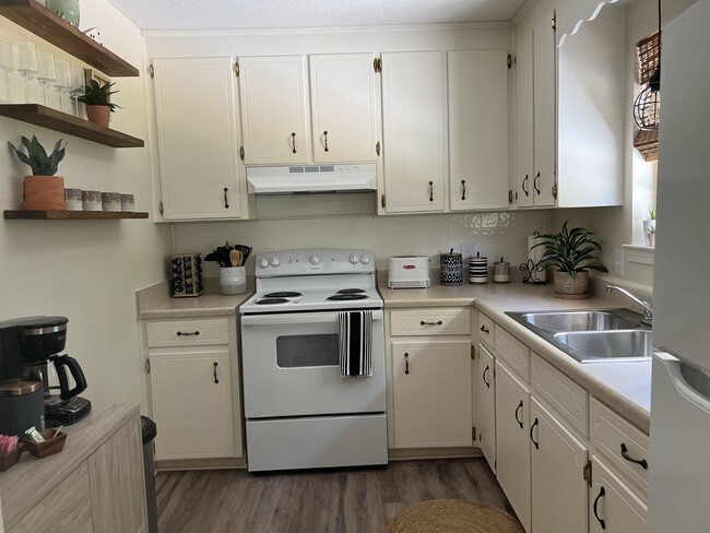
<path id="1" fill-rule="evenodd" d="M 632 426 L 594 398 L 590 401 L 591 441 L 619 472 L 648 494 L 649 490 L 649 436 Z M 626 448 L 623 452 L 622 449 Z M 682 453 L 682 451 L 678 451 Z M 625 454 L 628 459 L 623 457 Z M 643 465 L 630 461 L 646 461 Z"/>

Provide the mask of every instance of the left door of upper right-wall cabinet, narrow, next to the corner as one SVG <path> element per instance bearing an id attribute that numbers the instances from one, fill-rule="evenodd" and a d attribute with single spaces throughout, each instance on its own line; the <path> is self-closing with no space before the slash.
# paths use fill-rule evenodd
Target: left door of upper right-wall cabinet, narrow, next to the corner
<path id="1" fill-rule="evenodd" d="M 532 208 L 534 157 L 533 36 L 518 35 L 516 47 L 516 198 L 519 208 Z"/>

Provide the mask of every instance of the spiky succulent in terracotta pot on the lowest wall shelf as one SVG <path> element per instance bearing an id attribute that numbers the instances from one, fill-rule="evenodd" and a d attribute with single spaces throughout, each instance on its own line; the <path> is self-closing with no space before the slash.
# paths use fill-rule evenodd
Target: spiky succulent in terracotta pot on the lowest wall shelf
<path id="1" fill-rule="evenodd" d="M 32 135 L 32 141 L 26 137 L 22 138 L 26 154 L 8 141 L 20 161 L 32 168 L 33 176 L 25 176 L 23 181 L 22 209 L 49 211 L 67 209 L 64 178 L 55 176 L 59 162 L 64 158 L 64 149 L 67 147 L 67 143 L 63 147 L 61 146 L 61 139 L 57 141 L 49 155 L 35 135 Z"/>

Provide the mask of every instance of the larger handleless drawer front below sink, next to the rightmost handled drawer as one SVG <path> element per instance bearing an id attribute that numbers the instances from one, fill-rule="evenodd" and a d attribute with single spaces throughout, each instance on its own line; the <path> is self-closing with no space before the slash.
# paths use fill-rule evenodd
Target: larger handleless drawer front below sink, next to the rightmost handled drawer
<path id="1" fill-rule="evenodd" d="M 589 436 L 589 393 L 533 352 L 530 372 L 533 395 L 545 400 L 584 437 Z"/>

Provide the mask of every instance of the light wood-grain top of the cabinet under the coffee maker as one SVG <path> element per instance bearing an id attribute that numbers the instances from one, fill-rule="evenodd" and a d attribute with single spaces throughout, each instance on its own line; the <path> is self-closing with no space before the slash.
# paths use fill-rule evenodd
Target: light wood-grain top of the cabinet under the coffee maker
<path id="1" fill-rule="evenodd" d="M 138 405 L 125 404 L 94 410 L 82 421 L 62 429 L 67 441 L 61 452 L 35 459 L 25 451 L 17 464 L 0 473 L 4 528 L 11 530 L 138 412 Z"/>

